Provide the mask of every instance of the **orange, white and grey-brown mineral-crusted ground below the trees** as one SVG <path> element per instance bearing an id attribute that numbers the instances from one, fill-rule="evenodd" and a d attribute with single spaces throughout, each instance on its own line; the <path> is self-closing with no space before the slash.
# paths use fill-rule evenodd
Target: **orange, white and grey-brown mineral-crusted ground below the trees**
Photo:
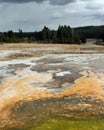
<path id="1" fill-rule="evenodd" d="M 0 47 L 1 129 L 37 124 L 48 117 L 104 117 L 103 47 Z"/>

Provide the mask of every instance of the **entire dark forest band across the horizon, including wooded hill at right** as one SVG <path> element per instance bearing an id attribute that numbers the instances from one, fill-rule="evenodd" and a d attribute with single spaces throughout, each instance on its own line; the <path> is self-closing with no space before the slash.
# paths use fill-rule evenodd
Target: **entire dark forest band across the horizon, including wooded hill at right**
<path id="1" fill-rule="evenodd" d="M 80 44 L 85 43 L 87 38 L 102 39 L 104 41 L 104 25 L 71 28 L 59 25 L 57 30 L 51 30 L 44 26 L 41 31 L 18 32 L 9 30 L 0 32 L 0 43 L 60 43 Z"/>

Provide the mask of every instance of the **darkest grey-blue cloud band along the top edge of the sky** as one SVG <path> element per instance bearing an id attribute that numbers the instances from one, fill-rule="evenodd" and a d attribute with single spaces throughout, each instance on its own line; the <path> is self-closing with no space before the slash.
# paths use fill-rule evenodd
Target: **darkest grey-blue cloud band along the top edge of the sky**
<path id="1" fill-rule="evenodd" d="M 0 0 L 2 3 L 29 3 L 29 2 L 36 2 L 42 3 L 48 1 L 51 5 L 66 5 L 77 0 Z"/>

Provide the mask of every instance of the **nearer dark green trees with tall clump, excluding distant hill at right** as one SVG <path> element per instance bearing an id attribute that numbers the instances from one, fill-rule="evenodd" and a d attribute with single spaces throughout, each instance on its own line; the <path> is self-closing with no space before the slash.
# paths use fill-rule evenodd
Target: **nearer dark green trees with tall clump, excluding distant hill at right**
<path id="1" fill-rule="evenodd" d="M 19 29 L 19 32 L 8 31 L 0 33 L 0 42 L 5 43 L 21 43 L 21 42 L 37 42 L 37 43 L 80 43 L 80 37 L 74 33 L 74 29 L 70 26 L 59 26 L 57 30 L 50 30 L 48 27 L 39 32 L 25 33 Z"/>

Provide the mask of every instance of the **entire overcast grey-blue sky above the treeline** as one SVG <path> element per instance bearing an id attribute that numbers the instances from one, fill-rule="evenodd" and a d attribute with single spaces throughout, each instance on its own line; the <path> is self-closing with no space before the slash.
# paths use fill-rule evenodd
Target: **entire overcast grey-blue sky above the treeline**
<path id="1" fill-rule="evenodd" d="M 104 0 L 0 0 L 0 32 L 103 24 Z"/>

